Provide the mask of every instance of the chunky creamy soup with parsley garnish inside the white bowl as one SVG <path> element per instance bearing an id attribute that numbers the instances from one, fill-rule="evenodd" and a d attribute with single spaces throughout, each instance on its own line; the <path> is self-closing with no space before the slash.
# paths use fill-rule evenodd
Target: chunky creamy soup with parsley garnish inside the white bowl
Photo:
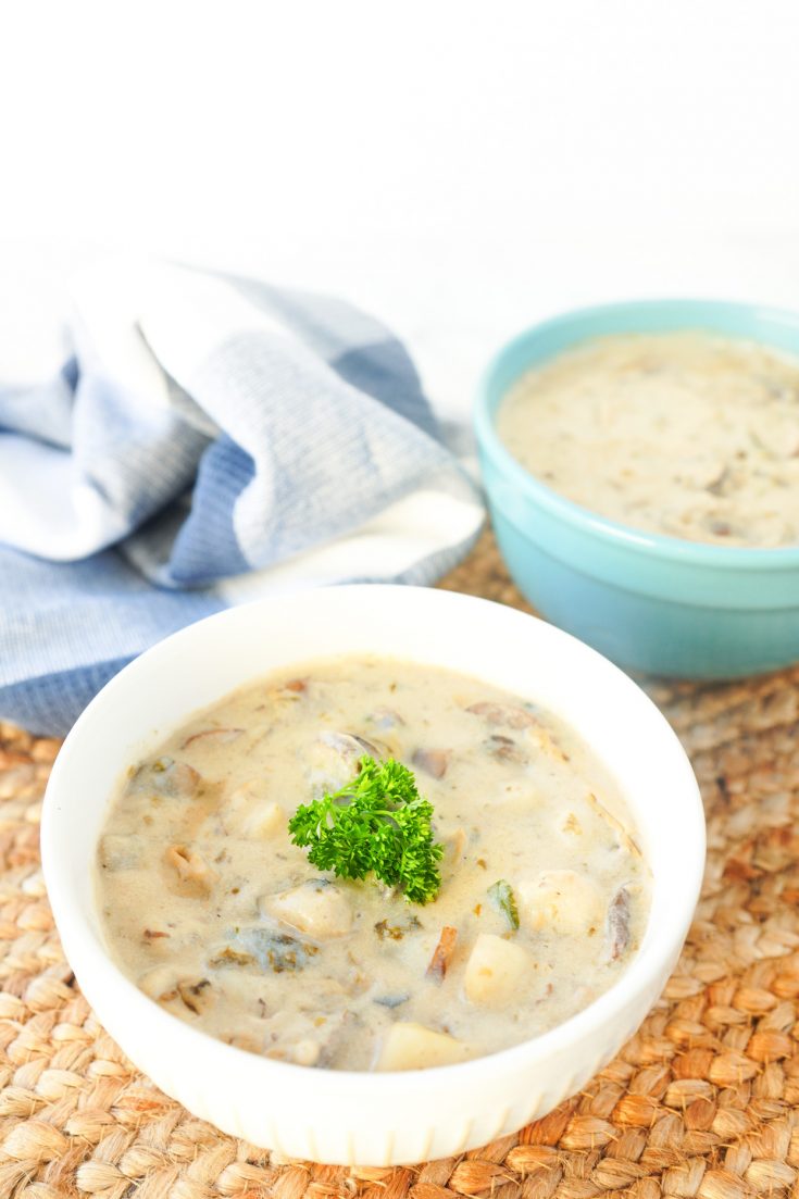
<path id="1" fill-rule="evenodd" d="M 341 1070 L 551 1029 L 626 969 L 649 892 L 621 799 L 566 727 L 384 658 L 304 664 L 194 716 L 131 769 L 97 857 L 107 940 L 146 995 Z"/>

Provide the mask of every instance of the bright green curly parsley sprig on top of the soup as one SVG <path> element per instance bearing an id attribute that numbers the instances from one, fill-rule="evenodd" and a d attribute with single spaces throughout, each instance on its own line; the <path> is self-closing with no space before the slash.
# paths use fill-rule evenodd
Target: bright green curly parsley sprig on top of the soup
<path id="1" fill-rule="evenodd" d="M 343 879 L 374 874 L 410 903 L 428 903 L 441 885 L 444 852 L 433 839 L 432 805 L 402 763 L 365 754 L 359 765 L 341 790 L 300 805 L 288 825 L 292 840 L 308 848 L 308 861 L 320 870 Z"/>

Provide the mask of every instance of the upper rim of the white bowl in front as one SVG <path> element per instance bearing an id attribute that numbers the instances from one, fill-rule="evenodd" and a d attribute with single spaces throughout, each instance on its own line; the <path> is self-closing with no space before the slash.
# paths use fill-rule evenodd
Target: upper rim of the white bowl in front
<path id="1" fill-rule="evenodd" d="M 242 619 L 245 611 L 252 611 L 253 609 L 264 609 L 266 614 L 274 604 L 288 604 L 290 601 L 296 600 L 298 595 L 317 596 L 319 603 L 324 603 L 325 592 L 336 592 L 344 597 L 347 595 L 360 594 L 368 597 L 370 602 L 379 602 L 380 595 L 388 592 L 403 595 L 410 592 L 417 597 L 426 597 L 420 601 L 423 603 L 461 607 L 464 615 L 468 615 L 470 608 L 474 610 L 474 607 L 479 605 L 480 608 L 493 609 L 497 619 L 500 620 L 533 621 L 539 626 L 539 635 L 551 638 L 564 646 L 567 653 L 576 652 L 583 656 L 589 663 L 593 661 L 595 667 L 599 665 L 606 674 L 614 676 L 617 686 L 626 689 L 631 697 L 635 693 L 635 703 L 642 705 L 648 711 L 650 719 L 655 718 L 655 724 L 660 724 L 656 740 L 661 743 L 663 754 L 668 757 L 669 770 L 683 776 L 683 788 L 686 794 L 686 817 L 691 821 L 691 827 L 686 829 L 685 857 L 680 863 L 681 885 L 668 909 L 668 933 L 666 934 L 665 930 L 659 928 L 655 936 L 660 938 L 660 940 L 653 940 L 649 946 L 642 945 L 617 982 L 594 1000 L 594 1002 L 589 1004 L 588 1007 L 547 1032 L 464 1062 L 434 1066 L 425 1070 L 385 1072 L 311 1070 L 293 1062 L 263 1058 L 218 1041 L 210 1034 L 203 1032 L 180 1020 L 149 999 L 114 962 L 106 946 L 102 945 L 101 939 L 95 935 L 89 921 L 84 917 L 80 904 L 76 900 L 74 894 L 71 893 L 68 872 L 60 863 L 56 837 L 59 820 L 54 813 L 62 796 L 66 796 L 65 802 L 74 811 L 74 801 L 70 803 L 68 796 L 71 791 L 72 794 L 79 794 L 79 789 L 71 787 L 70 779 L 76 769 L 80 766 L 86 743 L 91 742 L 90 734 L 96 715 L 103 711 L 109 703 L 114 703 L 118 699 L 121 700 L 126 688 L 136 685 L 139 675 L 146 676 L 151 664 L 157 664 L 161 656 L 173 653 L 175 646 L 180 646 L 181 643 L 186 643 L 190 646 L 197 637 L 203 635 L 203 629 L 208 629 L 209 626 L 221 627 L 224 622 L 233 623 Z M 546 632 L 542 632 L 543 629 Z M 423 657 L 420 661 L 423 661 Z M 451 669 L 457 668 L 453 667 Z M 469 668 L 464 665 L 463 669 L 468 673 Z M 259 673 L 263 674 L 263 671 Z M 250 677 L 256 677 L 256 675 Z M 247 679 L 242 679 L 239 685 L 244 685 Z M 577 731 L 579 733 L 579 729 Z M 704 870 L 705 839 L 702 797 L 685 749 L 660 709 L 620 668 L 570 633 L 519 609 L 477 596 L 402 584 L 320 586 L 304 589 L 301 592 L 287 592 L 260 598 L 194 621 L 145 650 L 106 683 L 102 691 L 86 706 L 65 740 L 48 782 L 41 833 L 42 864 L 53 914 L 56 920 L 59 934 L 64 941 L 67 958 L 77 948 L 76 959 L 78 957 L 80 959 L 79 971 L 77 972 L 82 976 L 78 981 L 83 986 L 84 980 L 86 982 L 91 980 L 90 986 L 85 987 L 86 998 L 90 1004 L 92 1002 L 92 995 L 98 994 L 101 989 L 103 990 L 103 1006 L 107 1011 L 112 1008 L 114 1000 L 119 999 L 131 1013 L 136 1012 L 137 1022 L 145 1022 L 154 1031 L 157 1030 L 160 1036 L 163 1037 L 163 1043 L 174 1044 L 179 1054 L 202 1053 L 209 1065 L 218 1068 L 226 1076 L 224 1085 L 227 1085 L 227 1070 L 235 1068 L 240 1077 L 244 1073 L 250 1080 L 260 1084 L 268 1083 L 270 1079 L 278 1085 L 282 1081 L 288 1085 L 292 1083 L 296 1085 L 311 1084 L 318 1093 L 334 1095 L 342 1102 L 362 1098 L 366 1091 L 377 1099 L 389 1101 L 396 1097 L 407 1097 L 416 1092 L 420 1084 L 432 1086 L 439 1080 L 441 1085 L 446 1081 L 450 1085 L 479 1086 L 481 1080 L 494 1077 L 497 1073 L 504 1073 L 511 1068 L 513 1071 L 533 1068 L 537 1062 L 558 1058 L 573 1044 L 593 1038 L 605 1025 L 611 1024 L 614 1019 L 618 1020 L 624 1011 L 633 1006 L 636 1000 L 641 999 L 648 986 L 650 986 L 653 976 L 663 968 L 667 960 L 669 969 L 673 969 L 674 963 L 672 957 L 681 950 L 685 933 L 696 910 Z M 649 927 L 648 924 L 648 930 Z M 668 950 L 668 953 L 666 950 Z M 101 1020 L 102 1018 L 101 1014 Z"/>

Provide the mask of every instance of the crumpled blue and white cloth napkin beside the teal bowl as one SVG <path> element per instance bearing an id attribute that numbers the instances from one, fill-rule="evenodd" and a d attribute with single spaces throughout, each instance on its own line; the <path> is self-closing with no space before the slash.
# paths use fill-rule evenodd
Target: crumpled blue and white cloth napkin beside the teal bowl
<path id="1" fill-rule="evenodd" d="M 479 532 L 408 354 L 338 300 L 115 264 L 38 326 L 0 345 L 0 718 L 65 733 L 193 620 L 432 583 Z"/>

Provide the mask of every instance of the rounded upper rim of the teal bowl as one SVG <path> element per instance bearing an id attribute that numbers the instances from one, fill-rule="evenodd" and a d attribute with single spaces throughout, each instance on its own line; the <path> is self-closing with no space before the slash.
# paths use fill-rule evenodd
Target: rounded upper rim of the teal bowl
<path id="1" fill-rule="evenodd" d="M 501 441 L 495 424 L 495 412 L 499 404 L 507 394 L 511 384 L 505 384 L 501 394 L 497 399 L 498 376 L 504 370 L 505 362 L 517 351 L 525 349 L 536 338 L 548 332 L 567 330 L 573 323 L 590 320 L 594 317 L 621 315 L 625 312 L 650 311 L 657 312 L 662 308 L 684 308 L 686 314 L 697 314 L 701 311 L 716 309 L 738 315 L 749 315 L 761 321 L 771 321 L 775 325 L 788 325 L 797 330 L 799 337 L 799 313 L 787 308 L 779 308 L 757 302 L 739 300 L 713 300 L 702 297 L 650 297 L 618 300 L 608 303 L 587 305 L 579 308 L 569 308 L 553 317 L 528 325 L 504 342 L 494 351 L 488 364 L 485 367 L 476 388 L 474 403 L 474 429 L 477 445 L 488 453 L 497 466 L 510 478 L 510 481 L 539 507 L 547 510 L 552 516 L 561 519 L 578 531 L 590 536 L 600 537 L 608 543 L 615 543 L 635 553 L 644 554 L 649 559 L 667 560 L 672 562 L 684 562 L 690 566 L 719 567 L 721 570 L 744 571 L 783 571 L 799 567 L 799 544 L 780 546 L 758 549 L 751 546 L 716 546 L 709 542 L 687 541 L 683 537 L 672 537 L 666 534 L 649 532 L 644 529 L 636 529 L 625 525 L 608 517 L 601 516 L 590 508 L 576 504 L 559 492 L 548 487 L 536 475 L 528 471 L 507 450 Z M 672 327 L 672 326 L 669 326 Z M 702 329 L 699 319 L 693 323 L 686 321 L 685 329 Z M 709 330 L 713 332 L 713 330 Z M 623 330 L 618 333 L 623 335 Z M 630 332 L 635 332 L 631 330 Z M 655 330 L 651 330 L 655 332 Z M 719 336 L 729 336 L 735 341 L 752 341 L 759 344 L 768 344 L 762 337 L 752 333 L 749 336 L 725 335 L 721 330 Z M 571 349 L 595 337 L 615 336 L 603 333 L 588 333 L 576 336 L 567 345 L 553 354 L 545 355 L 540 361 L 546 362 L 557 357 L 564 350 Z M 799 357 L 799 354 L 797 355 Z M 530 363 L 531 364 L 531 363 Z M 525 368 L 513 375 L 512 382 L 517 382 Z"/>

